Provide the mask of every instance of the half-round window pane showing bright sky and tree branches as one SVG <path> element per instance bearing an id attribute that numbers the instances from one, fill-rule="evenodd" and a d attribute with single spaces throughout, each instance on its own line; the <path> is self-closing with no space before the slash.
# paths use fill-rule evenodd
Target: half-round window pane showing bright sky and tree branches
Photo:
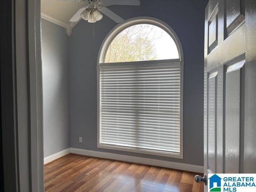
<path id="1" fill-rule="evenodd" d="M 151 24 L 137 24 L 112 40 L 105 63 L 176 58 L 179 58 L 178 49 L 165 30 Z"/>

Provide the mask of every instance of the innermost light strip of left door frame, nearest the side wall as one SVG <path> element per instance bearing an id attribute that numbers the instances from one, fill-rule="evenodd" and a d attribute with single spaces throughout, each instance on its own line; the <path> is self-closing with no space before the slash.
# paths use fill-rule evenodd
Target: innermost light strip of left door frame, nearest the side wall
<path id="1" fill-rule="evenodd" d="M 42 98 L 42 57 L 40 0 L 27 0 L 27 83 L 29 106 L 30 191 L 44 190 L 44 145 L 43 145 L 43 98 Z M 25 54 L 25 53 L 24 53 Z M 22 93 L 24 94 L 24 93 Z M 19 99 L 19 98 L 18 98 Z M 26 118 L 26 117 L 23 117 Z M 22 141 L 21 141 L 22 142 Z M 26 154 L 26 151 L 22 151 Z M 20 154 L 21 155 L 21 154 Z M 19 155 L 19 156 L 20 156 Z M 22 155 L 21 155 L 22 156 Z M 26 182 L 27 184 L 28 182 Z M 25 184 L 25 182 L 24 182 Z M 24 190 L 20 190 L 24 191 Z"/>

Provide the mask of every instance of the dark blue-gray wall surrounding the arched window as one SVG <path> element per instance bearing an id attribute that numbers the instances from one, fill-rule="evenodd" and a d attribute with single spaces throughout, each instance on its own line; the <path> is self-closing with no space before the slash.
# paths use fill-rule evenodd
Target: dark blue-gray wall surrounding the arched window
<path id="1" fill-rule="evenodd" d="M 208 0 L 141 0 L 140 6 L 111 6 L 124 19 L 151 16 L 168 23 L 184 50 L 184 159 L 97 148 L 97 54 L 116 23 L 104 16 L 94 24 L 81 20 L 69 38 L 70 146 L 173 162 L 203 165 L 204 8 Z M 158 1 L 157 1 L 158 2 Z M 160 1 L 159 1 L 160 2 Z M 158 6 L 158 8 L 156 8 Z M 83 142 L 78 142 L 78 137 Z"/>

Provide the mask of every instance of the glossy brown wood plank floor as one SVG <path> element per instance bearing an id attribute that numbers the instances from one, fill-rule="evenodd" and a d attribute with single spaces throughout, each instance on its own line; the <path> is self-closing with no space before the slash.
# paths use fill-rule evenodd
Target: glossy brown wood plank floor
<path id="1" fill-rule="evenodd" d="M 50 192 L 203 192 L 195 174 L 68 154 L 44 166 Z"/>

